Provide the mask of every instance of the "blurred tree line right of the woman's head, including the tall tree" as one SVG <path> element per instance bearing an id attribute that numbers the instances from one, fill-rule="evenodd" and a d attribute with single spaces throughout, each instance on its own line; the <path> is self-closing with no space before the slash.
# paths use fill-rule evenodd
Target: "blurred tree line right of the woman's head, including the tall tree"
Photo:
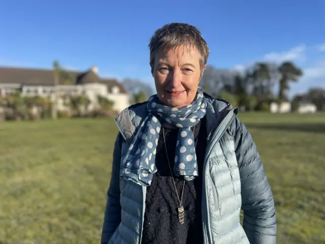
<path id="1" fill-rule="evenodd" d="M 297 82 L 302 75 L 302 70 L 292 62 L 280 65 L 258 62 L 243 71 L 207 66 L 201 86 L 211 96 L 228 100 L 233 107 L 266 111 L 272 102 L 288 101 L 290 82 Z"/>

